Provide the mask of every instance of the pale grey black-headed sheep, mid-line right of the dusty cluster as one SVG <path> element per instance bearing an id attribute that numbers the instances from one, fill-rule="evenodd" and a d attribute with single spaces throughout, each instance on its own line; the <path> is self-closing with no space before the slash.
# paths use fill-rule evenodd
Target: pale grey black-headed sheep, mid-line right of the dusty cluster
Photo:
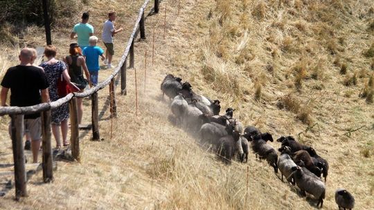
<path id="1" fill-rule="evenodd" d="M 292 177 L 290 177 L 292 171 L 292 167 L 296 166 L 292 158 L 290 157 L 291 148 L 290 146 L 282 146 L 278 151 L 281 152 L 278 158 L 278 169 L 281 171 L 282 174 L 282 182 L 283 182 L 283 175 L 288 178 L 287 181 L 291 182 L 293 185 L 295 181 Z"/>

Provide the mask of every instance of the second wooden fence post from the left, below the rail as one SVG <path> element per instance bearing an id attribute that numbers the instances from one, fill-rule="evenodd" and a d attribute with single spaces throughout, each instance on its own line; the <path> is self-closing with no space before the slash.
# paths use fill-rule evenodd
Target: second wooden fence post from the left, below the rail
<path id="1" fill-rule="evenodd" d="M 51 110 L 42 112 L 42 133 L 43 133 L 43 181 L 53 180 L 53 155 L 51 144 Z"/>

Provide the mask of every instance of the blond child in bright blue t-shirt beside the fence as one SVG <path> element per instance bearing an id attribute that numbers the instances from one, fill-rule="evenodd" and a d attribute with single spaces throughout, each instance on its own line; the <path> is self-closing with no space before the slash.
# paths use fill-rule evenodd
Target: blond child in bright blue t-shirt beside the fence
<path id="1" fill-rule="evenodd" d="M 104 50 L 99 46 L 96 46 L 98 43 L 98 37 L 91 36 L 89 37 L 89 46 L 83 49 L 83 56 L 86 59 L 86 65 L 89 70 L 89 75 L 91 77 L 92 85 L 96 86 L 98 84 L 98 70 L 100 66 L 98 64 L 98 57 L 101 57 L 101 60 L 105 60 L 103 55 Z"/>

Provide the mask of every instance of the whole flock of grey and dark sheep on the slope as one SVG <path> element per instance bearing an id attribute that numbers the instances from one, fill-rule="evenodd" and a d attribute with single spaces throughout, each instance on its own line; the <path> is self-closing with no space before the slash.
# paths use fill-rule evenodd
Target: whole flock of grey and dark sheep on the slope
<path id="1" fill-rule="evenodd" d="M 267 141 L 273 142 L 270 133 L 261 133 L 254 126 L 243 128 L 242 123 L 233 118 L 235 109 L 227 108 L 224 115 L 220 115 L 220 101 L 211 100 L 192 90 L 188 82 L 181 82 L 181 78 L 166 75 L 161 84 L 161 90 L 171 101 L 170 121 L 175 122 L 186 131 L 196 135 L 200 144 L 210 146 L 212 151 L 224 163 L 231 163 L 236 158 L 240 162 L 247 162 L 249 146 L 256 154 L 256 158 L 265 159 L 274 172 L 281 171 L 282 181 L 285 176 L 287 182 L 296 184 L 301 190 L 310 193 L 318 200 L 317 207 L 323 206 L 328 176 L 328 162 L 317 155 L 311 146 L 297 142 L 292 136 L 282 136 L 276 140 L 281 143 L 281 152 Z M 339 209 L 353 209 L 355 199 L 345 189 L 337 189 L 335 201 Z"/>

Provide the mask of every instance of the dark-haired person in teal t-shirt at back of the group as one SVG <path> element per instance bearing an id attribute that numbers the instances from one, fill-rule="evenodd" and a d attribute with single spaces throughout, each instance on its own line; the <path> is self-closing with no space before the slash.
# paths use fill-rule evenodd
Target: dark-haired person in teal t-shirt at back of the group
<path id="1" fill-rule="evenodd" d="M 74 39 L 78 36 L 78 44 L 82 50 L 89 46 L 89 37 L 94 35 L 94 27 L 89 23 L 89 13 L 84 12 L 82 15 L 82 22 L 76 24 L 71 32 L 70 38 Z"/>

